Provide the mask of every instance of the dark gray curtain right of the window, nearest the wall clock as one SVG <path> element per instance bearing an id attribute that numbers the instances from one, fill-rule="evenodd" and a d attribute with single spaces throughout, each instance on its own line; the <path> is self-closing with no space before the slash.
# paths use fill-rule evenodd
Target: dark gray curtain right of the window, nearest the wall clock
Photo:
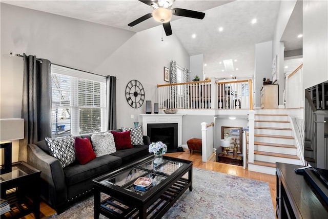
<path id="1" fill-rule="evenodd" d="M 106 76 L 107 130 L 116 129 L 116 77 Z"/>

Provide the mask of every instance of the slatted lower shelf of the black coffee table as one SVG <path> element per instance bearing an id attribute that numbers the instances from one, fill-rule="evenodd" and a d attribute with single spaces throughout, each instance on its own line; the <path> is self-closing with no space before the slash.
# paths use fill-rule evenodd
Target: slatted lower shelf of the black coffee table
<path id="1" fill-rule="evenodd" d="M 160 218 L 190 186 L 191 183 L 187 179 L 180 178 L 147 209 L 147 218 Z M 109 218 L 139 217 L 137 207 L 128 206 L 114 197 L 109 197 L 101 202 L 99 211 Z"/>

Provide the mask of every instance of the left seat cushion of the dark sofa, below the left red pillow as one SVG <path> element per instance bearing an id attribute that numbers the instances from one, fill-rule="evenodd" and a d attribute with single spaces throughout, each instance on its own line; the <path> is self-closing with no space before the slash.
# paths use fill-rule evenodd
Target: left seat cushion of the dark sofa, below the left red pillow
<path id="1" fill-rule="evenodd" d="M 105 174 L 119 167 L 121 164 L 122 160 L 118 156 L 107 154 L 96 157 L 85 165 L 75 164 L 64 168 L 65 181 L 67 185 L 73 185 Z"/>

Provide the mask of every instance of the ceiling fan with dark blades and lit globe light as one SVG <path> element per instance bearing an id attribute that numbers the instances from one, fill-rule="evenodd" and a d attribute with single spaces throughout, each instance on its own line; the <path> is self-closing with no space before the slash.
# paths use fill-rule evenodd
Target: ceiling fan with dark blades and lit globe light
<path id="1" fill-rule="evenodd" d="M 165 33 L 167 36 L 172 35 L 172 29 L 170 20 L 172 18 L 172 15 L 177 16 L 183 16 L 183 17 L 191 17 L 191 18 L 197 18 L 202 19 L 205 16 L 205 13 L 199 12 L 199 11 L 192 11 L 182 8 L 172 8 L 172 4 L 175 2 L 175 0 L 157 0 L 157 1 L 141 1 L 146 5 L 149 5 L 153 7 L 153 13 L 145 14 L 144 16 L 139 17 L 135 21 L 128 24 L 128 26 L 133 27 L 143 21 L 146 21 L 150 17 L 154 17 L 155 21 L 162 23 L 163 28 L 165 30 Z"/>

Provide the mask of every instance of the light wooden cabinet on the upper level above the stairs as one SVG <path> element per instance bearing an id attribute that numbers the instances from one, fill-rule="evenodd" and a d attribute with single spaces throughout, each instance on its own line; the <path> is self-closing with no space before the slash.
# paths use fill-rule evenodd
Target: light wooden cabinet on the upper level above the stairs
<path id="1" fill-rule="evenodd" d="M 261 108 L 278 108 L 278 85 L 263 85 L 261 89 Z"/>

